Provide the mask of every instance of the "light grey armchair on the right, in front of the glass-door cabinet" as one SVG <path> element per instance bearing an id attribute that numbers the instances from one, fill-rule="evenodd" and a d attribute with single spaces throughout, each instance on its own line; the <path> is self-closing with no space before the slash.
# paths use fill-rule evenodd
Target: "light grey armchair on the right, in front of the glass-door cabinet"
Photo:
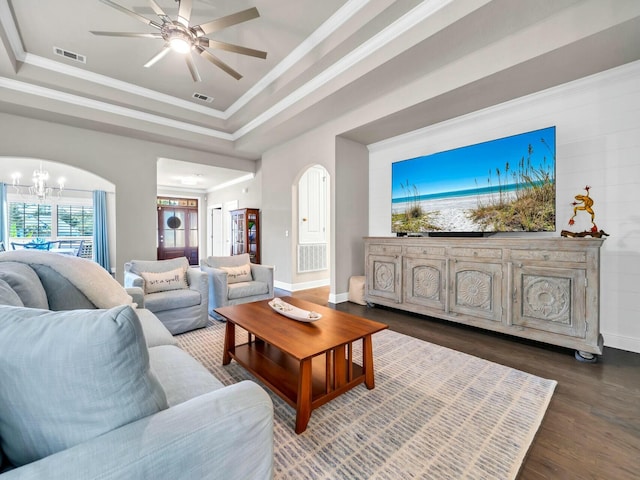
<path id="1" fill-rule="evenodd" d="M 273 298 L 273 266 L 249 262 L 249 254 L 207 257 L 200 269 L 209 276 L 209 315 L 223 318 L 214 310 L 225 305 Z"/>

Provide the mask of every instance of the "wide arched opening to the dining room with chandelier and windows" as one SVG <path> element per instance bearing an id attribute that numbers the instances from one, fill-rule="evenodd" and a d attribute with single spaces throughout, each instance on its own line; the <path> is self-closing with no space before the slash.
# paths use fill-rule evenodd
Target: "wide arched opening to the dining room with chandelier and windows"
<path id="1" fill-rule="evenodd" d="M 115 238 L 113 183 L 65 163 L 29 157 L 0 157 L 0 183 L 0 240 L 7 249 L 12 243 L 49 242 L 61 251 L 81 245 L 82 256 L 111 270 L 115 245 L 106 239 Z M 100 213 L 95 191 L 104 192 L 97 200 Z"/>

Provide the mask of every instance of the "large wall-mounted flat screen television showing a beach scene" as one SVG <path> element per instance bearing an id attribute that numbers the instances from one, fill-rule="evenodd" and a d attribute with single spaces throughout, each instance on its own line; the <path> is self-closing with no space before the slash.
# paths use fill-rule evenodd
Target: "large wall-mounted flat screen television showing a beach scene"
<path id="1" fill-rule="evenodd" d="M 556 230 L 556 128 L 394 162 L 398 235 Z"/>

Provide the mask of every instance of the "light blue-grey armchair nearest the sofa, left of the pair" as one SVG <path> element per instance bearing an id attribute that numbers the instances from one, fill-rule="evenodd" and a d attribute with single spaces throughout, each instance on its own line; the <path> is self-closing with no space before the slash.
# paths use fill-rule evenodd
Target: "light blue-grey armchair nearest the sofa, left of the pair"
<path id="1" fill-rule="evenodd" d="M 209 302 L 207 275 L 190 268 L 186 257 L 131 260 L 124 265 L 124 286 L 143 292 L 143 305 L 176 335 L 206 326 Z"/>

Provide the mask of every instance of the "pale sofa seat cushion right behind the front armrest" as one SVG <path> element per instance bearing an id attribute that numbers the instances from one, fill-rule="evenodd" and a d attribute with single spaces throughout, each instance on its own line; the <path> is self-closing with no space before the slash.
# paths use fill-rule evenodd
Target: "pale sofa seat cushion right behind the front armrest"
<path id="1" fill-rule="evenodd" d="M 176 346 L 152 347 L 149 359 L 171 407 L 224 386 L 200 362 Z"/>

